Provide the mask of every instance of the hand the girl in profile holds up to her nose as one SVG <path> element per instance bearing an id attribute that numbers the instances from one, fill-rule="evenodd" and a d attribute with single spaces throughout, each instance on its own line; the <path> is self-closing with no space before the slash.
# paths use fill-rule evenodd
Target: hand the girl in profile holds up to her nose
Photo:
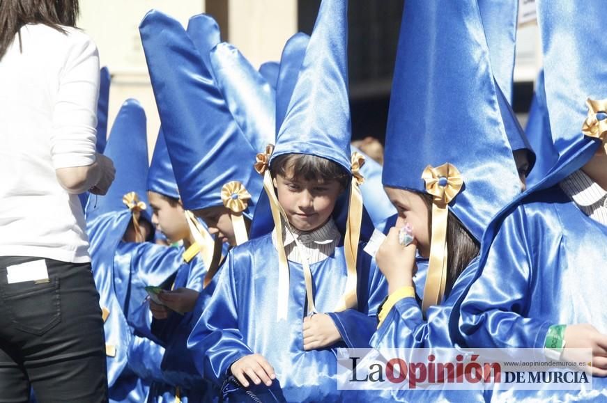
<path id="1" fill-rule="evenodd" d="M 408 246 L 402 246 L 399 243 L 399 230 L 400 228 L 396 227 L 390 228 L 390 232 L 375 255 L 377 265 L 387 280 L 388 294 L 401 287 L 413 287 L 413 274 L 417 270 L 415 267 L 417 243 L 413 241 Z"/>

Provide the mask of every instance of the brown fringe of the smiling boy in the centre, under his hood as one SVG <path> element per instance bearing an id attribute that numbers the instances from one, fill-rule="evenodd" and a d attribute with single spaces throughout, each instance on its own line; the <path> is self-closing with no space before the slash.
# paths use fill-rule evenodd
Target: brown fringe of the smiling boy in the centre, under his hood
<path id="1" fill-rule="evenodd" d="M 308 154 L 284 154 L 272 161 L 270 173 L 275 177 L 286 177 L 289 171 L 293 172 L 294 179 L 316 180 L 317 182 L 330 182 L 337 180 L 341 189 L 350 184 L 352 175 L 337 162 L 323 157 Z"/>

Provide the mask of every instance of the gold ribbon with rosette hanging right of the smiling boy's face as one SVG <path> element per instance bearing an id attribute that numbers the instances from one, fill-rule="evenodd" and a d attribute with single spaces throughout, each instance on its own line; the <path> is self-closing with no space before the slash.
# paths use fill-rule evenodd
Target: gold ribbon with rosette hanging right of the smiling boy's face
<path id="1" fill-rule="evenodd" d="M 336 312 L 349 308 L 356 308 L 358 297 L 356 295 L 356 260 L 358 256 L 358 242 L 360 241 L 360 226 L 362 221 L 362 193 L 360 185 L 364 177 L 360 168 L 364 165 L 364 157 L 360 152 L 353 152 L 351 156 L 352 184 L 350 187 L 350 201 L 348 203 L 348 220 L 346 221 L 346 237 L 344 239 L 344 253 L 346 255 L 346 267 L 348 276 L 346 278 L 346 290 L 341 296 L 341 301 Z"/>

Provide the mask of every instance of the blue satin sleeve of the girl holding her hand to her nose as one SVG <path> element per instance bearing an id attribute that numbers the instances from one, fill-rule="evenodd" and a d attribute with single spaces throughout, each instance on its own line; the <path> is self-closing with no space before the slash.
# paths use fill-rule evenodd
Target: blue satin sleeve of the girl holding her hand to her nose
<path id="1" fill-rule="evenodd" d="M 371 340 L 374 348 L 454 347 L 459 338 L 454 305 L 466 292 L 478 268 L 478 258 L 468 264 L 457 278 L 443 303 L 431 306 L 427 320 L 415 298 L 404 298 L 394 304 Z"/>

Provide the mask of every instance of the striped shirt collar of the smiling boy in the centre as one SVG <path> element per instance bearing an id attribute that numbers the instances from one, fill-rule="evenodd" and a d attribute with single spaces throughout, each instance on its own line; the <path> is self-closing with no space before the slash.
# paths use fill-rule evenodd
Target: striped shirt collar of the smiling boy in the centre
<path id="1" fill-rule="evenodd" d="M 307 257 L 308 263 L 313 264 L 325 260 L 335 251 L 339 244 L 341 234 L 333 219 L 329 219 L 323 226 L 314 231 L 305 232 L 292 228 L 293 232 L 282 226 L 282 239 L 286 258 L 291 262 L 302 263 L 302 254 Z M 297 239 L 298 242 L 295 242 Z M 272 242 L 276 246 L 276 230 L 272 232 Z M 298 247 L 299 243 L 299 247 Z"/>

